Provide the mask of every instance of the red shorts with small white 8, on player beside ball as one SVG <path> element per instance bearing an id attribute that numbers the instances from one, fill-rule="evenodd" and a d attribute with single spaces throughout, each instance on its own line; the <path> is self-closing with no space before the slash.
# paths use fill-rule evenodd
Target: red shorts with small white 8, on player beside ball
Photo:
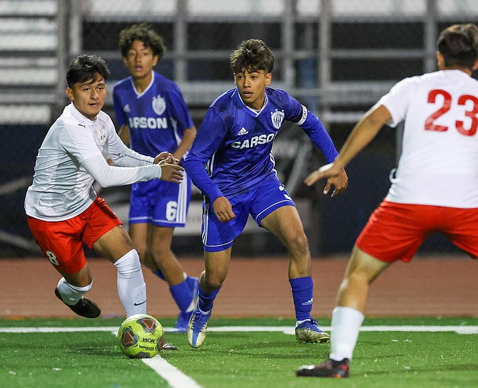
<path id="1" fill-rule="evenodd" d="M 92 248 L 98 238 L 122 224 L 100 197 L 72 219 L 52 222 L 27 216 L 27 222 L 41 251 L 63 273 L 77 273 L 86 265 L 83 243 Z"/>

